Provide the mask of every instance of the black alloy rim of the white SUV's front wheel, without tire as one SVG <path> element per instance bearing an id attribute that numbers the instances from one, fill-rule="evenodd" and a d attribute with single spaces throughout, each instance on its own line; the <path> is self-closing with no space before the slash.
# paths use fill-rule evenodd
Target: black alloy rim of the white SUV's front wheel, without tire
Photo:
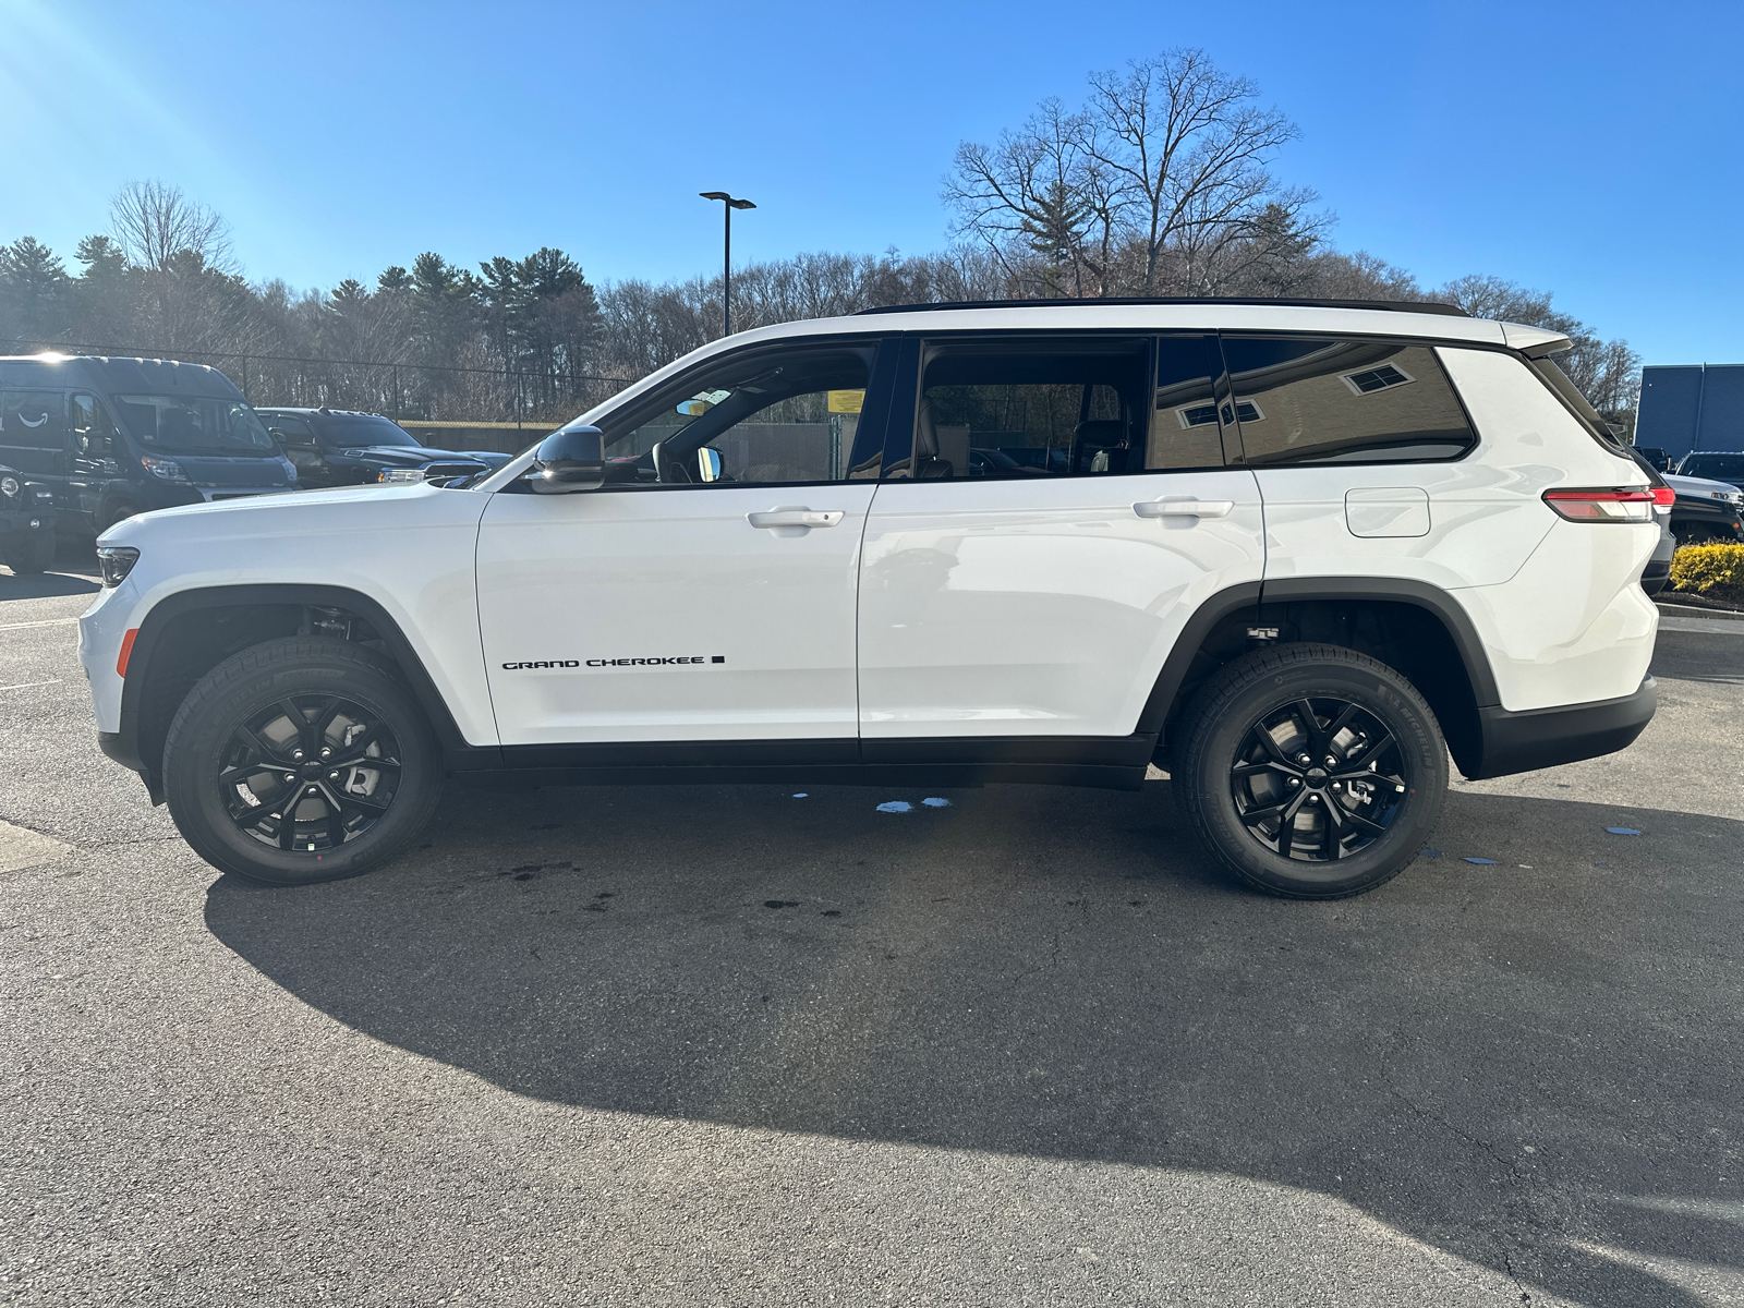
<path id="1" fill-rule="evenodd" d="M 290 694 L 230 732 L 216 776 L 249 839 L 317 853 L 375 827 L 403 771 L 399 741 L 378 713 L 337 694 Z"/>

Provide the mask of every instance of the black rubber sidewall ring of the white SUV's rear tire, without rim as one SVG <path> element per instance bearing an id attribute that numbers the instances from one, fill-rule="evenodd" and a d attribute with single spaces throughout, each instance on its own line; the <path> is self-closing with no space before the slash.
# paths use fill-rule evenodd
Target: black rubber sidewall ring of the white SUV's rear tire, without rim
<path id="1" fill-rule="evenodd" d="M 1298 699 L 1336 696 L 1374 713 L 1392 731 L 1409 769 L 1404 811 L 1386 835 L 1336 863 L 1308 863 L 1266 849 L 1242 823 L 1230 785 L 1235 753 L 1252 726 Z M 1243 879 L 1278 895 L 1341 898 L 1390 881 L 1434 834 L 1448 788 L 1448 750 L 1435 717 L 1400 678 L 1353 664 L 1298 664 L 1238 691 L 1195 739 L 1191 785 L 1212 844 Z M 1325 875 L 1336 869 L 1336 875 Z"/>

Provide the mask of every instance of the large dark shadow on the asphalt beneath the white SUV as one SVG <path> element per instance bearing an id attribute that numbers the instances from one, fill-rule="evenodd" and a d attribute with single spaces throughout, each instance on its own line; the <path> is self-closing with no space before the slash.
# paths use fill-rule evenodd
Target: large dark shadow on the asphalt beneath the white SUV
<path id="1" fill-rule="evenodd" d="M 1167 800 L 457 788 L 392 867 L 206 921 L 521 1095 L 1236 1174 L 1591 1303 L 1699 1301 L 1615 1250 L 1744 1268 L 1744 823 L 1454 794 L 1406 875 L 1299 903 Z"/>

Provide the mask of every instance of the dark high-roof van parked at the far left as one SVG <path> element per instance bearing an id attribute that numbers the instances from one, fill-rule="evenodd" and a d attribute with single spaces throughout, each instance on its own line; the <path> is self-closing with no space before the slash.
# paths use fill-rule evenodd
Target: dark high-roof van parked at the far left
<path id="1" fill-rule="evenodd" d="M 89 532 L 296 485 L 228 377 L 167 359 L 0 358 L 0 464 L 47 487 L 63 527 Z"/>

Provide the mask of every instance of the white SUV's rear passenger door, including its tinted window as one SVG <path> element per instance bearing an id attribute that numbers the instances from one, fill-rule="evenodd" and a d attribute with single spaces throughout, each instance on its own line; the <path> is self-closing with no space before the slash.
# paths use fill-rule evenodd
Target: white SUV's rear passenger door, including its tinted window
<path id="1" fill-rule="evenodd" d="M 860 731 L 1118 738 L 1210 595 L 1257 582 L 1205 335 L 917 345 L 914 448 L 867 520 Z M 895 453 L 895 452 L 893 452 Z"/>

